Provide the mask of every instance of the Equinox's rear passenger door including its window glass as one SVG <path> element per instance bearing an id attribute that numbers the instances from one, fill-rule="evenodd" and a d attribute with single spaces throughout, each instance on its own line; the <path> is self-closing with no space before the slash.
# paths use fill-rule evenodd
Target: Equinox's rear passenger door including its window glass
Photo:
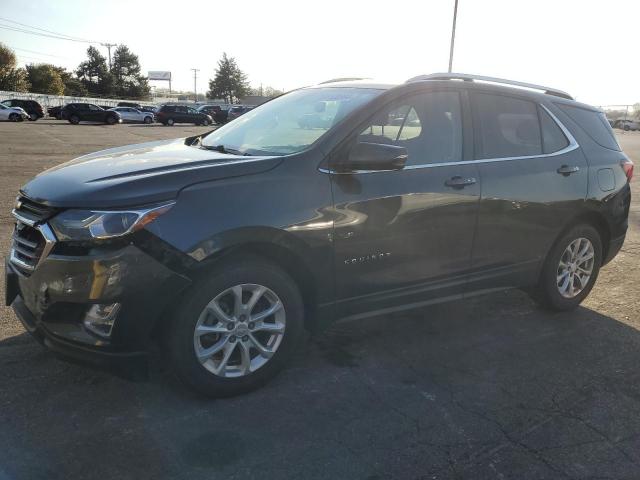
<path id="1" fill-rule="evenodd" d="M 472 92 L 482 199 L 471 290 L 535 282 L 538 269 L 587 193 L 587 164 L 548 107 Z"/>

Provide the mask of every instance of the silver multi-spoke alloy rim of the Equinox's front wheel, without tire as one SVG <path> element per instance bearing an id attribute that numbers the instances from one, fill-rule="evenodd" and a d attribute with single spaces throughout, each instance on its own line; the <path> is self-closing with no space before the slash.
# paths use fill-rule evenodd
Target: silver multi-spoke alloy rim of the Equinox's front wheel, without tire
<path id="1" fill-rule="evenodd" d="M 226 289 L 204 308 L 193 333 L 199 362 L 219 377 L 242 377 L 265 365 L 286 327 L 278 295 L 258 284 Z"/>

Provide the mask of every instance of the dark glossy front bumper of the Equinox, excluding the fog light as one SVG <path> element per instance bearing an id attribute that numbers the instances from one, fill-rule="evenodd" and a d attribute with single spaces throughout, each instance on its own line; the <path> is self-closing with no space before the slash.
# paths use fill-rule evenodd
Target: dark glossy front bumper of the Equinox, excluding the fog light
<path id="1" fill-rule="evenodd" d="M 9 261 L 5 268 L 6 303 L 36 339 L 63 357 L 128 377 L 146 372 L 154 327 L 190 284 L 132 244 L 79 256 L 54 251 L 30 276 Z M 122 308 L 109 338 L 84 326 L 92 304 L 115 302 Z"/>

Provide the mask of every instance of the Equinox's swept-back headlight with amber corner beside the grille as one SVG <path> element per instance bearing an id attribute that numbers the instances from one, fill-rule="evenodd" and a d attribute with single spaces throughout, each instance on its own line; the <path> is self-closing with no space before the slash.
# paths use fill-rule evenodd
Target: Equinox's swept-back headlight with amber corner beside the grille
<path id="1" fill-rule="evenodd" d="M 140 230 L 174 205 L 174 202 L 132 210 L 65 210 L 49 222 L 58 240 L 121 237 Z"/>

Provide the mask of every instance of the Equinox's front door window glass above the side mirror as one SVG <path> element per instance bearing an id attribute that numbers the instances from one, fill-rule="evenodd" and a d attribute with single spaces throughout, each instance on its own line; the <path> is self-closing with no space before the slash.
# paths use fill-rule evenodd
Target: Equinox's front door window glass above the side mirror
<path id="1" fill-rule="evenodd" d="M 393 102 L 376 114 L 358 141 L 405 147 L 407 165 L 462 160 L 457 92 L 427 92 Z"/>

